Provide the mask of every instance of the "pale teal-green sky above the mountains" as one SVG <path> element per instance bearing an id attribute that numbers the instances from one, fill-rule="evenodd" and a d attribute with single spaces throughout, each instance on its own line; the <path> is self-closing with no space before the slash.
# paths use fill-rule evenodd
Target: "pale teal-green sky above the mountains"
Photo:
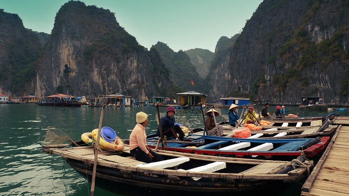
<path id="1" fill-rule="evenodd" d="M 25 28 L 51 33 L 59 8 L 69 0 L 0 0 Z M 214 52 L 221 36 L 240 33 L 263 0 L 80 0 L 115 13 L 125 30 L 150 49 L 158 41 L 174 52 L 202 48 Z"/>

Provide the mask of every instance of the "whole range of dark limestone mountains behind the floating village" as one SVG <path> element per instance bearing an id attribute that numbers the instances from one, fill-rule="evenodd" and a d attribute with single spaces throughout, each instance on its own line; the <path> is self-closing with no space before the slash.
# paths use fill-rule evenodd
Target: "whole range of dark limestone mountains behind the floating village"
<path id="1" fill-rule="evenodd" d="M 174 52 L 161 41 L 148 51 L 109 10 L 81 1 L 58 10 L 51 35 L 0 9 L 0 93 L 121 93 L 149 101 L 196 91 L 207 102 L 277 104 L 324 94 L 330 105 L 349 106 L 348 9 L 343 0 L 265 0 L 241 33 L 218 40 L 213 55 Z"/>

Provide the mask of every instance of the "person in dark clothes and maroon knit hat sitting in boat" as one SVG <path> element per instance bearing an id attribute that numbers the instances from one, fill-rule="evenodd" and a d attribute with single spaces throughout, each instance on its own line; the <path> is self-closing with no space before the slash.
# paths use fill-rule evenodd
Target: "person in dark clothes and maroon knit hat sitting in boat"
<path id="1" fill-rule="evenodd" d="M 177 124 L 174 125 L 174 122 L 175 122 L 174 113 L 175 113 L 174 107 L 170 106 L 166 110 L 166 115 L 163 116 L 160 119 L 161 129 L 162 129 L 162 132 L 163 132 L 163 137 L 164 136 L 166 136 L 166 137 L 174 137 L 175 141 L 181 140 L 181 141 L 191 142 L 192 139 L 185 137 L 182 129 L 180 128 L 180 126 L 177 125 Z M 177 133 L 179 135 L 179 139 L 177 137 Z M 161 137 L 160 126 L 158 126 L 157 135 L 159 137 Z"/>

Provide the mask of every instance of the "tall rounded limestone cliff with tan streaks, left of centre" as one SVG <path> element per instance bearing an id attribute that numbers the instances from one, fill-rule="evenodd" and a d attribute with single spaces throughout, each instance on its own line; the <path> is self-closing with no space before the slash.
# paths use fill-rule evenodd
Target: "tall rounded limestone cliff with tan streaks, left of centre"
<path id="1" fill-rule="evenodd" d="M 75 96 L 120 93 L 146 101 L 170 84 L 161 70 L 160 56 L 140 46 L 113 13 L 69 1 L 56 15 L 34 87 L 40 97 L 62 90 Z"/>

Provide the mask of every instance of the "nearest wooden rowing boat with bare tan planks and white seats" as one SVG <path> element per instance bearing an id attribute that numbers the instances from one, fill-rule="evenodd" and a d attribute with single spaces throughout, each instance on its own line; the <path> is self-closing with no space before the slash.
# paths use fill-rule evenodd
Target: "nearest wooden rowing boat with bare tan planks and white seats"
<path id="1" fill-rule="evenodd" d="M 63 158 L 88 181 L 92 179 L 94 150 L 91 146 L 44 145 L 43 151 Z M 312 171 L 303 157 L 292 162 L 213 157 L 159 150 L 164 161 L 145 164 L 123 151 L 103 150 L 98 155 L 95 185 L 114 192 L 161 193 L 162 195 L 220 196 L 277 195 L 289 183 L 298 182 Z M 303 162 L 303 163 L 302 163 Z M 301 165 L 301 166 L 300 166 Z M 296 168 L 296 169 L 294 169 Z M 270 192 L 272 190 L 272 192 Z"/>

